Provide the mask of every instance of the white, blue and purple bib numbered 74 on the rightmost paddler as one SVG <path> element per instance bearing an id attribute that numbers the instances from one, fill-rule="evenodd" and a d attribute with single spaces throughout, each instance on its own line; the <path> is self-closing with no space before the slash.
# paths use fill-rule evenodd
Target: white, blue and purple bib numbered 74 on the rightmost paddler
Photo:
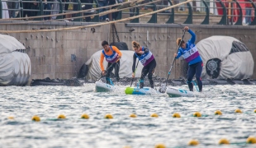
<path id="1" fill-rule="evenodd" d="M 195 44 L 191 44 L 189 48 L 190 49 L 183 51 L 183 58 L 186 60 L 186 62 L 191 62 L 193 59 L 200 56 Z"/>

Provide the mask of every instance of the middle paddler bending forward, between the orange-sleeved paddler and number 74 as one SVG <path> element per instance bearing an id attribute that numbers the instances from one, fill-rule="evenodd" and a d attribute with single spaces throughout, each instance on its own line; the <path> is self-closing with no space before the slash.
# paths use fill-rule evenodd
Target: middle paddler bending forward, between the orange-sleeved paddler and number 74
<path id="1" fill-rule="evenodd" d="M 150 87 L 154 88 L 154 81 L 152 80 L 152 76 L 154 74 L 154 68 L 156 67 L 156 61 L 154 59 L 154 55 L 149 51 L 147 47 L 141 47 L 138 42 L 132 41 L 132 48 L 135 50 L 133 55 L 133 65 L 132 65 L 132 77 L 135 77 L 135 63 L 136 58 L 139 59 L 141 64 L 144 66 L 142 68 L 141 76 L 140 76 L 140 89 L 144 86 L 145 76 L 148 74 Z"/>

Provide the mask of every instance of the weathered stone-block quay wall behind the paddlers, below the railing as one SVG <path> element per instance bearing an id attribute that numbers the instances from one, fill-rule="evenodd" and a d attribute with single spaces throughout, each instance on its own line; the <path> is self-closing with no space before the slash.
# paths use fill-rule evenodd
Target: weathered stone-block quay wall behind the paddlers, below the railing
<path id="1" fill-rule="evenodd" d="M 1 30 L 40 30 L 42 28 L 64 28 L 78 25 L 78 23 L 59 22 L 51 25 L 0 25 Z M 88 25 L 88 23 L 79 23 Z M 197 34 L 197 42 L 211 35 L 229 35 L 241 40 L 256 55 L 255 49 L 255 26 L 235 25 L 188 25 Z M 129 30 L 134 28 L 135 31 Z M 154 25 L 154 24 L 124 24 L 116 25 L 119 38 L 128 44 L 131 49 L 131 41 L 139 41 L 141 45 L 147 45 L 154 53 L 157 60 L 155 74 L 167 76 L 173 53 L 178 46 L 176 39 L 182 36 L 181 25 Z M 111 25 L 95 27 L 83 30 L 68 30 L 45 33 L 16 33 L 10 34 L 16 37 L 26 46 L 27 53 L 31 58 L 31 78 L 42 79 L 45 77 L 68 79 L 77 76 L 80 67 L 97 50 L 102 49 L 102 40 L 111 42 Z M 148 36 L 148 39 L 147 39 Z M 186 35 L 185 39 L 189 39 Z M 71 62 L 71 54 L 77 56 L 76 62 Z M 255 61 L 255 59 L 254 59 Z M 255 62 L 256 63 L 256 62 Z M 183 60 L 175 62 L 170 78 L 183 76 Z M 256 64 L 254 64 L 256 65 Z M 253 67 L 252 67 L 253 68 Z M 254 79 L 256 78 L 254 68 Z"/>

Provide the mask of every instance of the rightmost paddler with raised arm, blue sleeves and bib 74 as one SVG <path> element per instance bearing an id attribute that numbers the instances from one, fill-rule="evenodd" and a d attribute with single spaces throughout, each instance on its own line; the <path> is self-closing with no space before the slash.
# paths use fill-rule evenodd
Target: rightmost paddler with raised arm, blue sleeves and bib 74
<path id="1" fill-rule="evenodd" d="M 201 83 L 201 72 L 203 63 L 200 57 L 200 54 L 197 50 L 197 46 L 195 44 L 196 35 L 195 33 L 188 28 L 188 26 L 184 27 L 184 30 L 192 35 L 192 38 L 185 43 L 181 38 L 177 39 L 177 44 L 181 44 L 181 47 L 178 49 L 178 53 L 174 53 L 174 57 L 179 58 L 183 55 L 183 58 L 188 62 L 188 71 L 187 71 L 187 85 L 190 91 L 193 91 L 192 78 L 196 74 L 197 85 L 199 91 L 202 90 Z"/>

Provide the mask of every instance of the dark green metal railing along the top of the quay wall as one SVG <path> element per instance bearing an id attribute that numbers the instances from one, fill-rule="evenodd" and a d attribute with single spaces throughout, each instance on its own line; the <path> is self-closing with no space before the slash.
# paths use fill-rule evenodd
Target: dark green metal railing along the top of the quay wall
<path id="1" fill-rule="evenodd" d="M 100 10 L 94 12 L 79 12 L 72 14 L 71 16 L 56 16 L 50 17 L 44 15 L 49 14 L 61 14 L 66 12 L 76 12 L 81 10 L 91 9 L 92 7 L 100 7 L 97 0 L 91 0 L 91 3 L 85 3 L 87 1 L 81 2 L 80 0 L 54 0 L 50 2 L 45 2 L 44 0 L 0 0 L 0 19 L 7 17 L 7 12 L 12 12 L 12 15 L 9 14 L 11 18 L 13 12 L 15 12 L 16 17 L 25 16 L 42 16 L 36 18 L 33 21 L 43 21 L 49 19 L 69 19 L 70 21 L 100 21 L 100 16 L 94 16 L 91 18 L 88 15 L 99 14 Z M 135 7 L 130 8 L 129 11 L 119 11 L 114 12 L 116 15 L 112 15 L 112 20 L 119 20 L 125 17 L 138 16 L 147 12 L 152 12 L 159 10 L 164 7 L 173 6 L 176 3 L 184 2 L 185 0 L 163 0 L 160 2 L 151 3 L 145 5 L 144 7 Z M 246 2 L 244 2 L 246 1 Z M 17 2 L 18 7 L 7 8 L 6 4 L 8 2 Z M 89 1 L 88 1 L 89 2 Z M 119 0 L 116 0 L 119 2 Z M 146 2 L 153 2 L 153 0 L 148 0 Z M 158 18 L 161 16 L 167 17 L 167 21 L 164 23 L 177 23 L 176 20 L 183 21 L 183 24 L 193 24 L 193 17 L 200 16 L 202 25 L 209 25 L 210 19 L 220 19 L 216 24 L 218 25 L 256 25 L 256 3 L 253 0 L 194 0 L 189 2 L 186 5 L 174 7 L 169 11 L 155 13 L 153 14 L 147 23 L 157 23 Z M 245 5 L 247 7 L 245 7 Z M 73 6 L 73 7 L 72 7 Z M 250 6 L 250 7 L 248 7 Z M 50 8 L 49 8 L 50 7 Z M 71 8 L 71 9 L 70 9 Z M 79 17 L 80 16 L 80 17 Z M 84 17 L 83 17 L 84 16 Z M 186 17 L 185 19 L 184 16 Z M 73 17 L 79 17 L 72 19 Z M 28 17 L 29 18 L 29 17 Z M 26 20 L 26 19 L 25 19 Z M 198 20 L 198 19 L 197 19 Z M 1 21 L 1 20 L 0 20 Z M 245 21 L 245 22 L 244 22 Z M 131 20 L 132 23 L 139 23 L 140 19 L 136 18 Z"/>

